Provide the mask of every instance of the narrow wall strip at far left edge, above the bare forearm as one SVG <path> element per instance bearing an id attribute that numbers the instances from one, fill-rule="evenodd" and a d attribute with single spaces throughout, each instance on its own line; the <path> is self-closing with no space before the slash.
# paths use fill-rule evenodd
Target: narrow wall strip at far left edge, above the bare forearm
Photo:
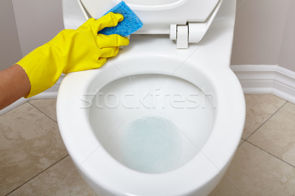
<path id="1" fill-rule="evenodd" d="M 0 2 L 0 71 L 22 57 L 11 0 Z"/>

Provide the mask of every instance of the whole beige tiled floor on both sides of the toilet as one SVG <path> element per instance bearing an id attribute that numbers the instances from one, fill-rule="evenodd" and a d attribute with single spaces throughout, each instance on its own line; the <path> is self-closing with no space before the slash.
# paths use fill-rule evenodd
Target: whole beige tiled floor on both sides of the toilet
<path id="1" fill-rule="evenodd" d="M 245 99 L 244 139 L 286 103 L 273 95 L 245 95 Z M 56 121 L 56 99 L 30 103 Z M 25 103 L 0 116 L 0 195 L 37 175 L 9 196 L 96 196 L 69 156 L 42 172 L 67 152 L 57 123 L 36 108 Z M 294 104 L 285 104 L 249 142 L 295 163 L 294 111 Z M 238 147 L 227 176 L 230 179 L 224 177 L 209 196 L 295 196 L 295 168 L 246 141 Z"/>

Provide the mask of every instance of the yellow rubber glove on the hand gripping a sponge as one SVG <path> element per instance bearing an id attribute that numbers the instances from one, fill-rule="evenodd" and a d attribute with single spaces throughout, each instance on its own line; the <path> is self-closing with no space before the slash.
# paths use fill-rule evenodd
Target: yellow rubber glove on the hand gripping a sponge
<path id="1" fill-rule="evenodd" d="M 61 73 L 99 68 L 108 57 L 116 56 L 119 46 L 129 44 L 128 38 L 97 32 L 116 26 L 123 19 L 121 14 L 112 12 L 97 20 L 90 18 L 77 30 L 60 31 L 51 41 L 17 62 L 27 73 L 31 85 L 24 97 L 32 97 L 52 87 Z"/>

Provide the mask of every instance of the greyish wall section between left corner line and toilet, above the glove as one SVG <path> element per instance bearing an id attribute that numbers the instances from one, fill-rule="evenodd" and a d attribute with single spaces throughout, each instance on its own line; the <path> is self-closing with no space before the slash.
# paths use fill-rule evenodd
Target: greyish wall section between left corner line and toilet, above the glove
<path id="1" fill-rule="evenodd" d="M 64 28 L 61 0 L 12 0 L 12 4 L 23 56 Z"/>

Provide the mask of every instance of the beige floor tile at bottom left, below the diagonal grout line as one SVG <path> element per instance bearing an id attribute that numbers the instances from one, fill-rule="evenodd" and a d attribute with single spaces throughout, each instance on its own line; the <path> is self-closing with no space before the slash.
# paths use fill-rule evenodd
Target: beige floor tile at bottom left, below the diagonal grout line
<path id="1" fill-rule="evenodd" d="M 9 196 L 96 196 L 96 194 L 75 171 L 75 166 L 67 156 Z"/>

